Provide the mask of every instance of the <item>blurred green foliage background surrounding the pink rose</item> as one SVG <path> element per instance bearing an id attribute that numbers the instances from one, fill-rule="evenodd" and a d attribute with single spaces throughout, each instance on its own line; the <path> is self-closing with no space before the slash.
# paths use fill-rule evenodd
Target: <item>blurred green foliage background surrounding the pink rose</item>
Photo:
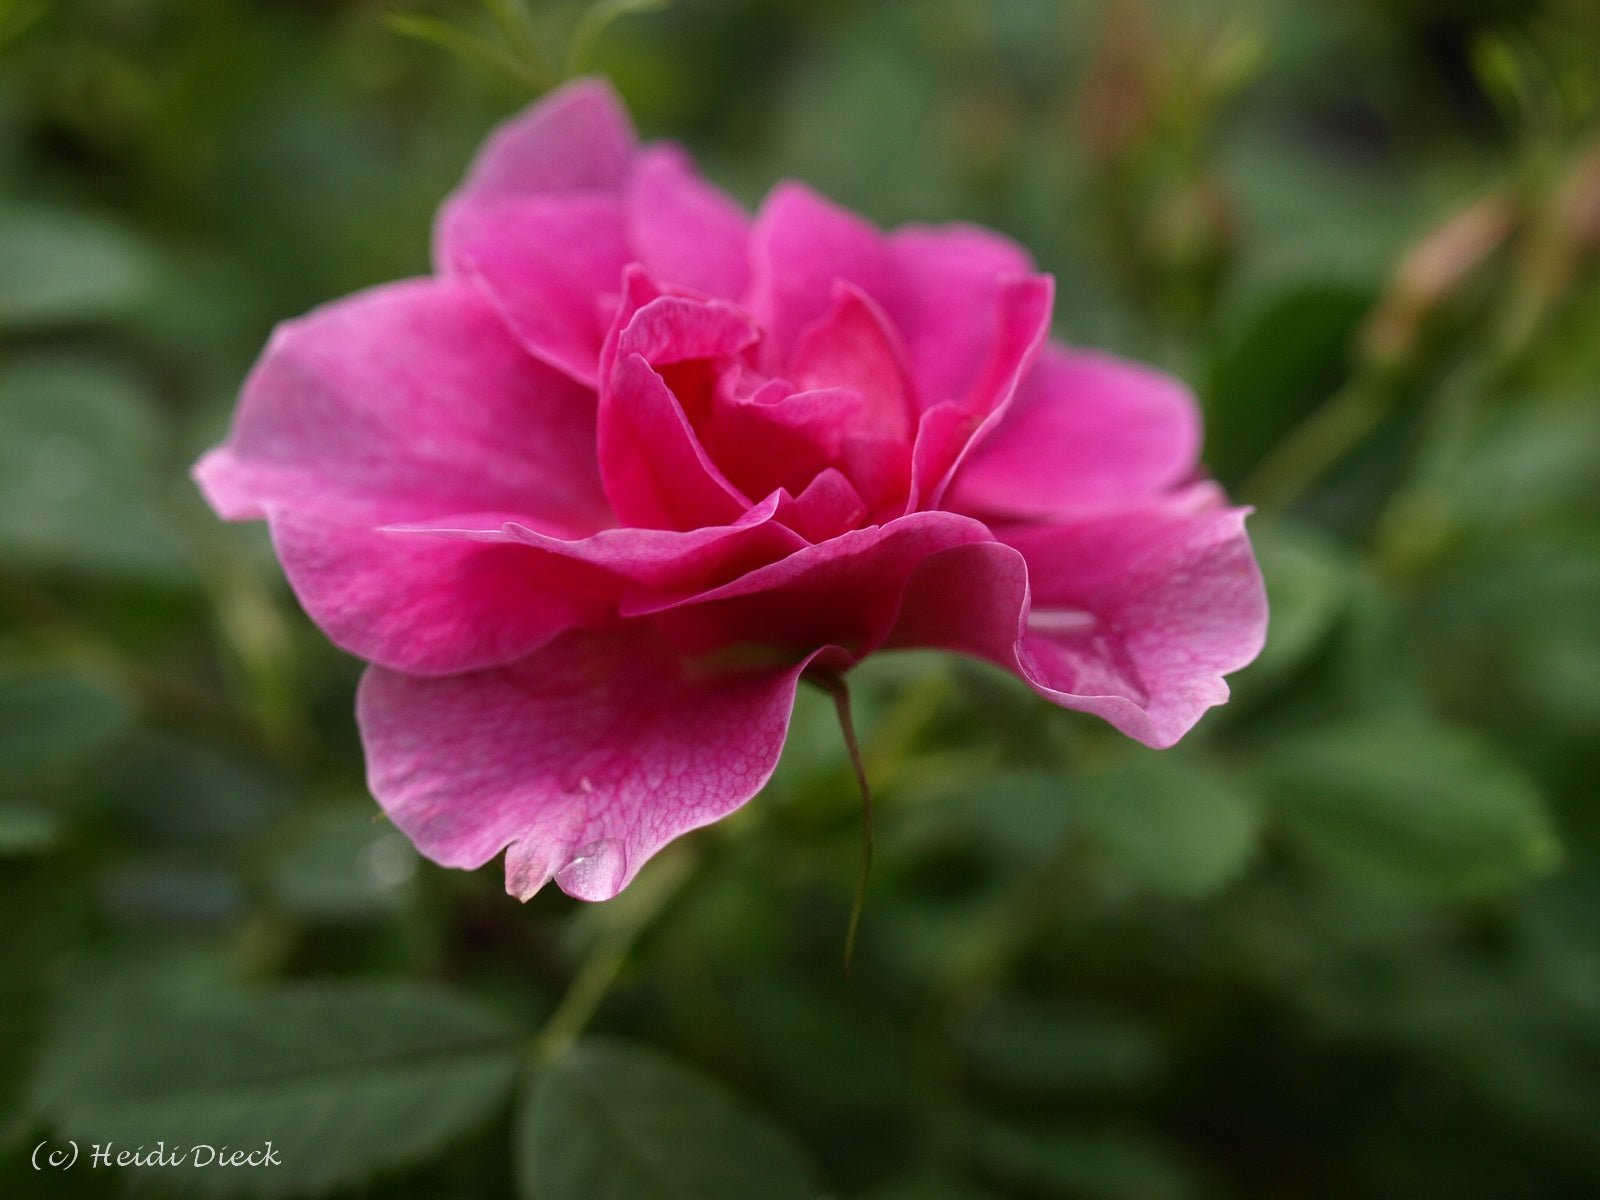
<path id="1" fill-rule="evenodd" d="M 0 0 L 0 1192 L 1600 1195 L 1597 64 L 1592 0 Z M 520 907 L 373 819 L 358 664 L 187 482 L 571 70 L 746 203 L 1016 237 L 1258 506 L 1270 643 L 1174 750 L 859 672 L 850 981 L 826 699 Z"/>

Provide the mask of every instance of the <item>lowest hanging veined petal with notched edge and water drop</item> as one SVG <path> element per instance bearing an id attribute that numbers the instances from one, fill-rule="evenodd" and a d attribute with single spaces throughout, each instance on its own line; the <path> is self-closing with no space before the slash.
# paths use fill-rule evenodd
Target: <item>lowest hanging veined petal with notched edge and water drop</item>
<path id="1" fill-rule="evenodd" d="M 667 842 L 726 816 L 778 765 L 816 658 L 712 672 L 643 626 L 571 634 L 510 667 L 373 667 L 357 717 L 373 795 L 418 850 L 506 890 L 610 899 Z"/>

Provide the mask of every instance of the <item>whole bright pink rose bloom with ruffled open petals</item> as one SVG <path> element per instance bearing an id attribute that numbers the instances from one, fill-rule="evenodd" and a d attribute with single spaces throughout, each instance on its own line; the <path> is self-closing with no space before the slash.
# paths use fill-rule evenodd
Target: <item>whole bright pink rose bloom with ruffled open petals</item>
<path id="1" fill-rule="evenodd" d="M 614 896 L 766 782 L 805 672 L 878 650 L 1170 746 L 1261 648 L 1189 392 L 1051 342 L 1003 237 L 792 182 L 747 216 L 584 80 L 435 245 L 280 326 L 195 475 L 371 664 L 371 789 L 437 862 Z"/>

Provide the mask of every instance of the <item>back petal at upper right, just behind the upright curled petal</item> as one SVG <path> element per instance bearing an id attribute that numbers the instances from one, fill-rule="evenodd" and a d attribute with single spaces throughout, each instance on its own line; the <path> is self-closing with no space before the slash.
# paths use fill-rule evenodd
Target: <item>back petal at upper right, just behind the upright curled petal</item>
<path id="1" fill-rule="evenodd" d="M 994 312 L 1000 286 L 1034 274 L 1014 242 L 976 226 L 907 226 L 890 235 L 906 278 L 890 312 L 906 344 L 923 408 L 965 397 L 989 352 L 992 330 L 974 314 Z"/>

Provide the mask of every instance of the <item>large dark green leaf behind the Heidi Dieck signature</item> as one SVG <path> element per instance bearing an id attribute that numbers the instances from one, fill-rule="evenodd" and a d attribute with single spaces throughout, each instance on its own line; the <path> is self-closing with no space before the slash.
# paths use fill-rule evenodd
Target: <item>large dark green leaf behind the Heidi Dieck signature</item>
<path id="1" fill-rule="evenodd" d="M 186 1195 L 358 1184 L 482 1125 L 515 1078 L 517 1030 L 416 984 L 195 1000 L 112 992 L 56 1029 L 35 1109 L 59 1136 L 133 1149 L 259 1149 L 280 1166 L 182 1170 Z"/>

